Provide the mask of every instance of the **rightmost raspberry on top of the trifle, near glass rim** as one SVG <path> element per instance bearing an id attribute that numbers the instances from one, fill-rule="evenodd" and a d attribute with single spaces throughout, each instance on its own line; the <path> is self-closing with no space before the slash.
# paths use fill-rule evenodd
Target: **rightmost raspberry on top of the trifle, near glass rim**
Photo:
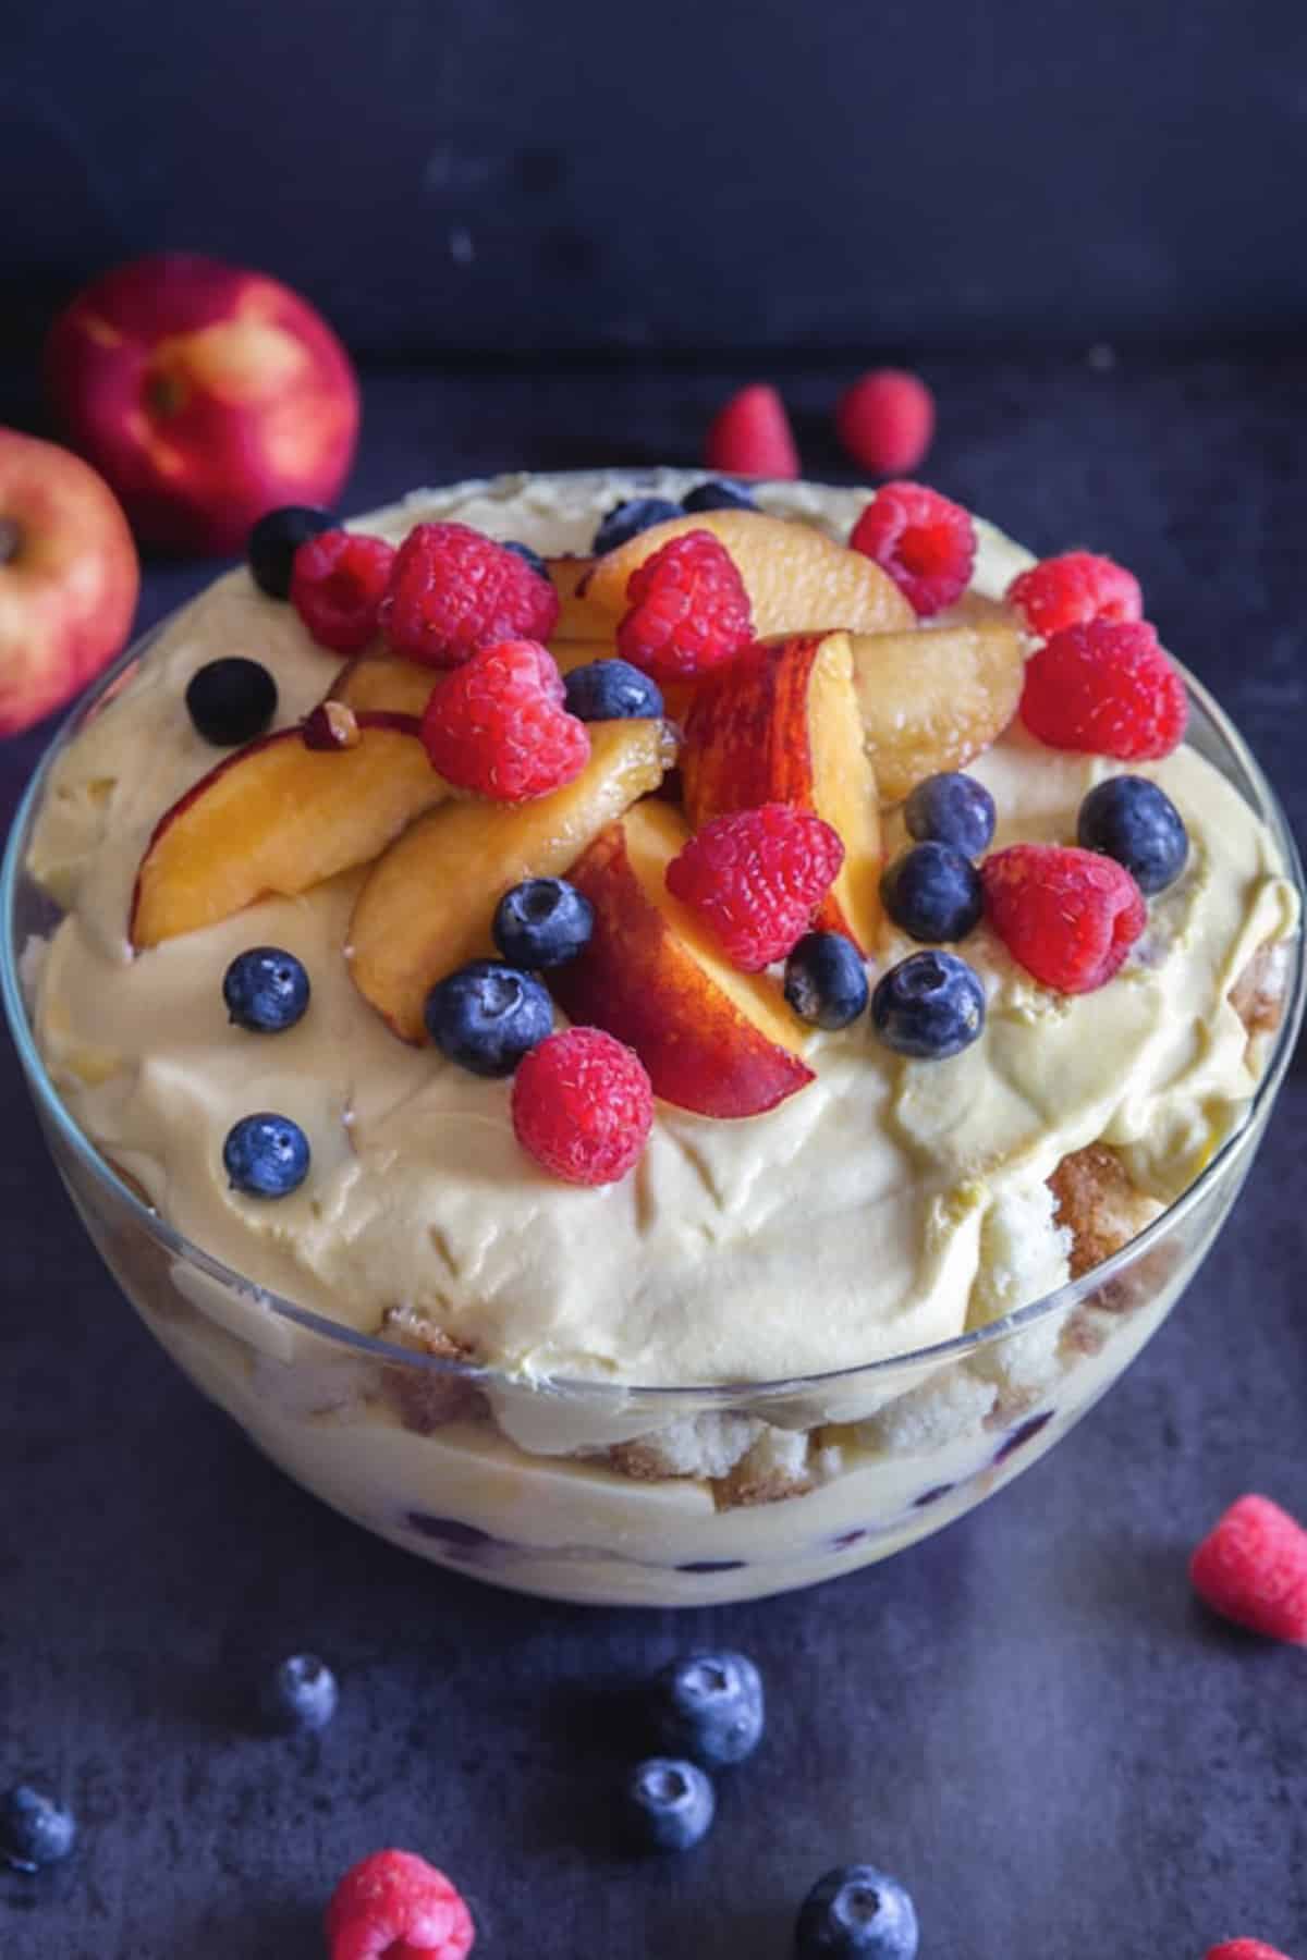
<path id="1" fill-rule="evenodd" d="M 1146 619 L 1068 625 L 1025 662 L 1021 719 L 1050 749 L 1144 762 L 1170 755 L 1189 708 Z"/>

